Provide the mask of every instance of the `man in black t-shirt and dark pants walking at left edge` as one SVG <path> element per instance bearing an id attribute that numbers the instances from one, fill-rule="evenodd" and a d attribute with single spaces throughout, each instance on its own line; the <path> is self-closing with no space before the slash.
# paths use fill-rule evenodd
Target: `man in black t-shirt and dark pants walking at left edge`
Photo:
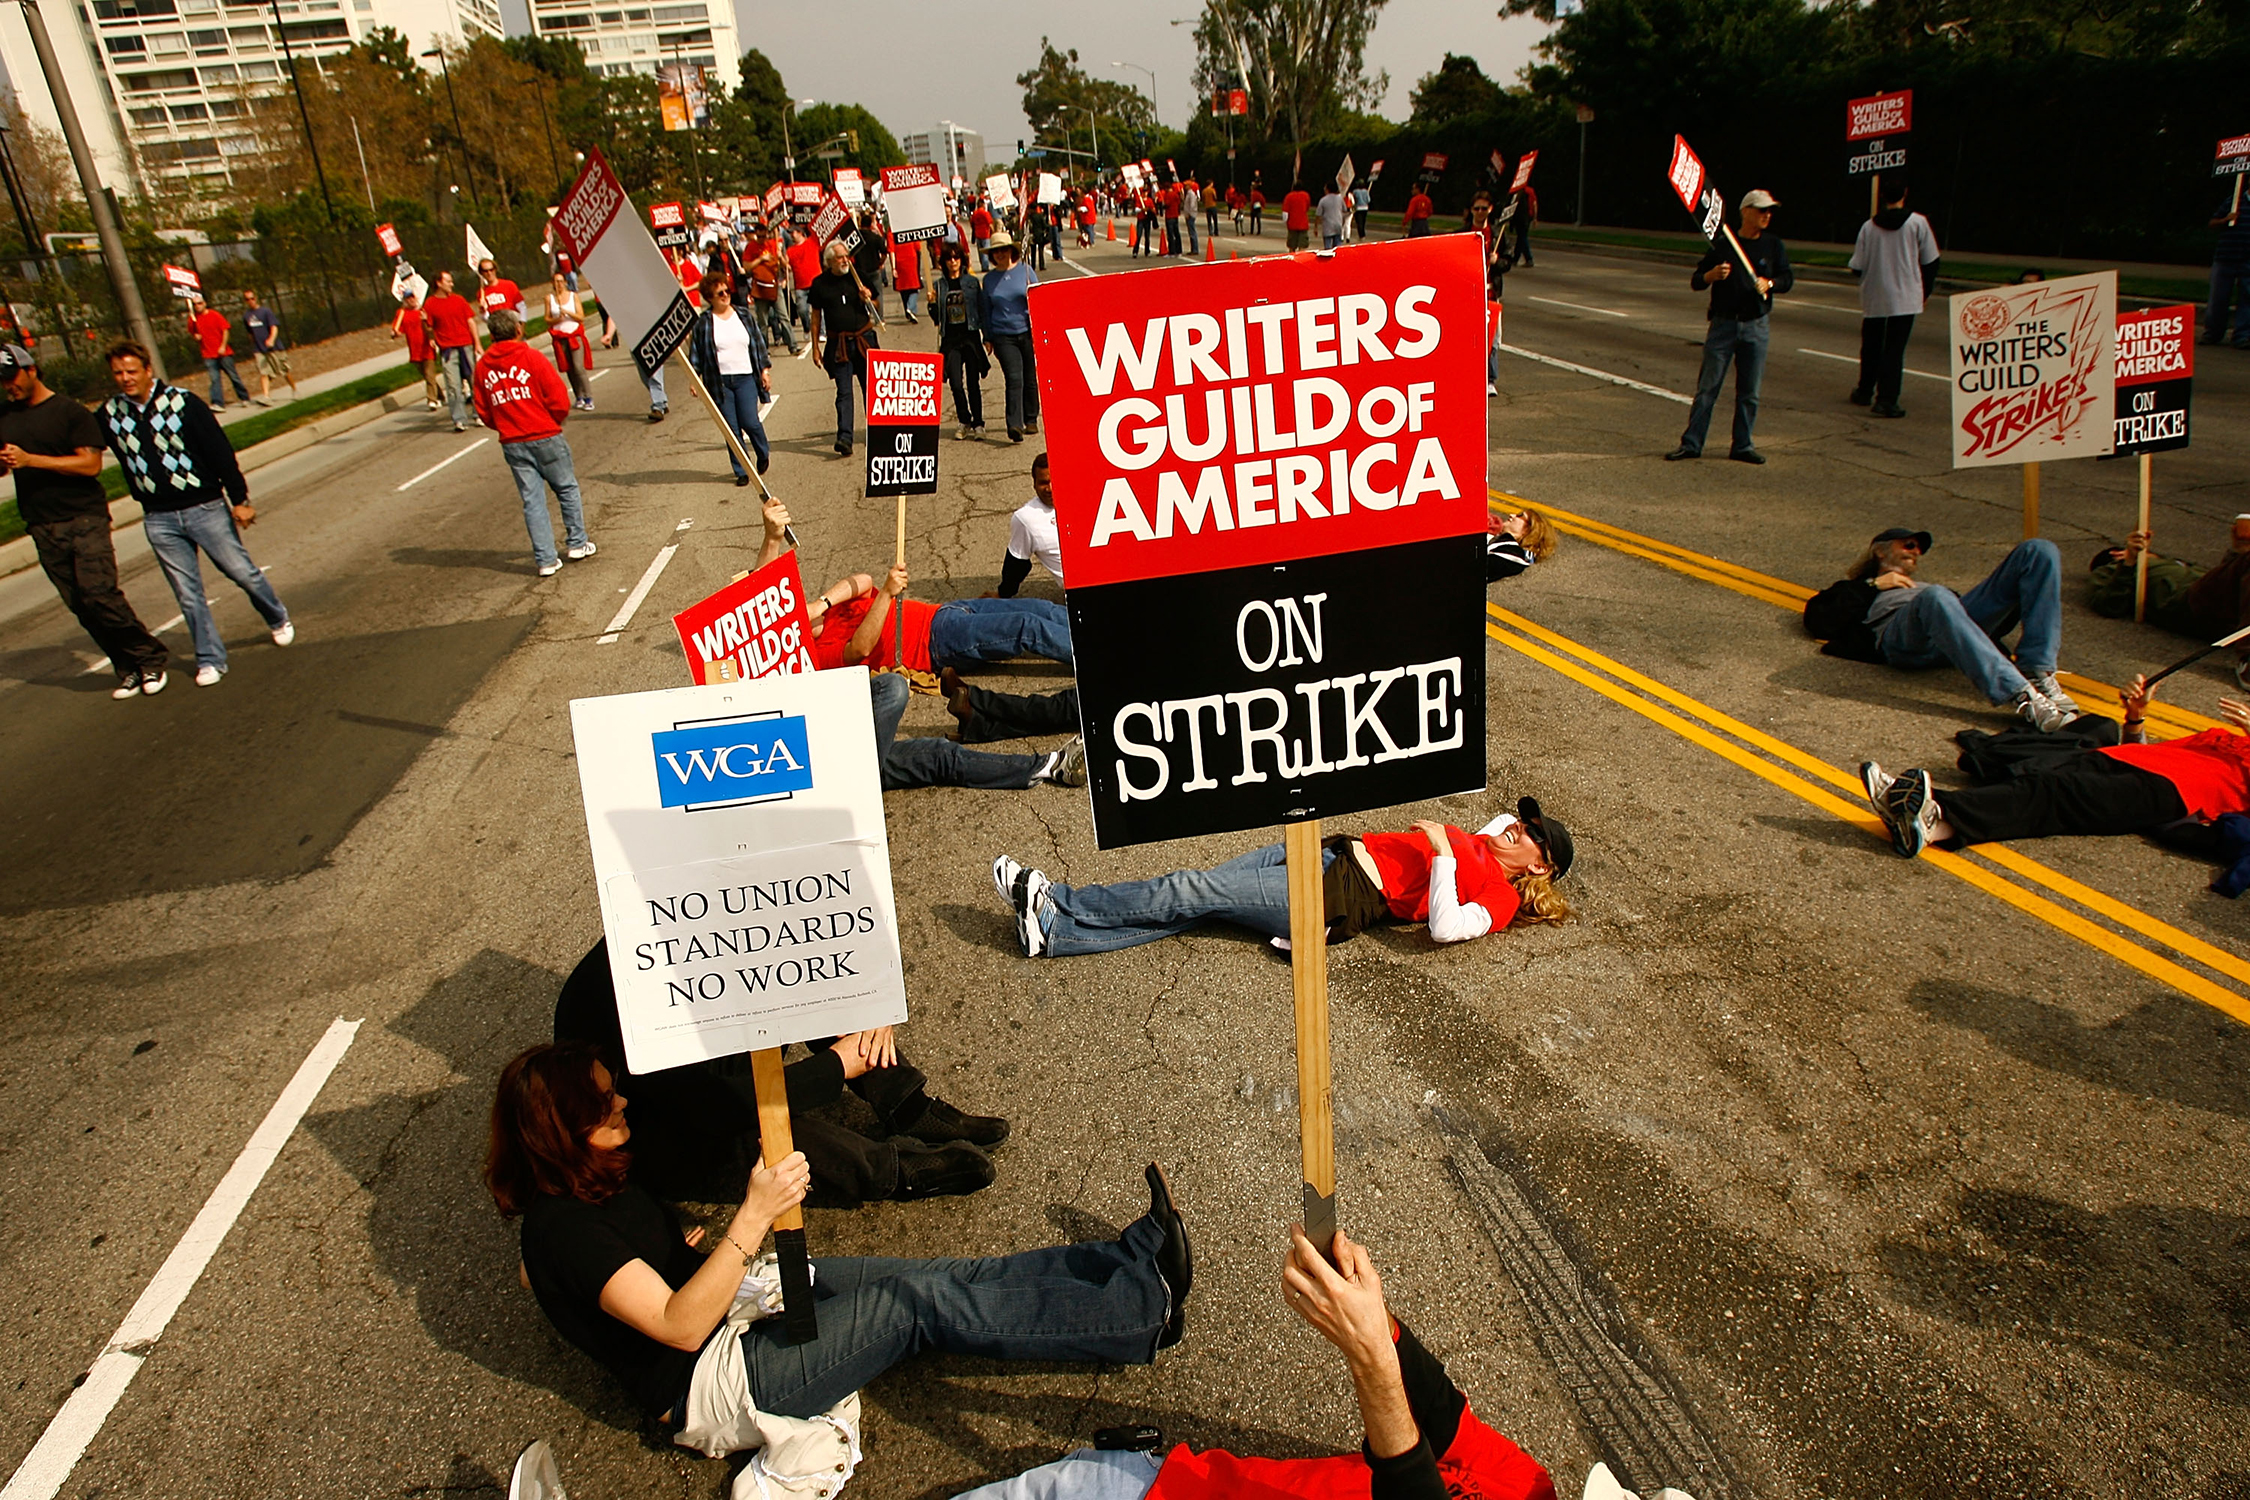
<path id="1" fill-rule="evenodd" d="M 7 407 L 0 409 L 0 466 L 16 475 L 16 510 L 38 549 L 38 564 L 86 634 L 117 672 L 110 697 L 164 690 L 164 643 L 133 614 L 117 587 L 110 501 L 101 490 L 101 423 L 38 378 L 20 344 L 0 344 Z"/>

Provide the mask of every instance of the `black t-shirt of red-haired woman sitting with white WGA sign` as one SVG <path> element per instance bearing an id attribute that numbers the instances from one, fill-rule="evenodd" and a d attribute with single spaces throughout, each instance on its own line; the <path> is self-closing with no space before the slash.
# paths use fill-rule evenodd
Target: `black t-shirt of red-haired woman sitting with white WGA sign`
<path id="1" fill-rule="evenodd" d="M 637 1259 L 655 1266 L 673 1291 L 702 1266 L 670 1212 L 639 1187 L 608 1203 L 536 1199 L 524 1210 L 522 1244 L 531 1295 L 556 1331 L 623 1381 L 641 1410 L 652 1417 L 673 1410 L 695 1374 L 695 1354 L 659 1345 L 601 1311 L 601 1289 Z"/>

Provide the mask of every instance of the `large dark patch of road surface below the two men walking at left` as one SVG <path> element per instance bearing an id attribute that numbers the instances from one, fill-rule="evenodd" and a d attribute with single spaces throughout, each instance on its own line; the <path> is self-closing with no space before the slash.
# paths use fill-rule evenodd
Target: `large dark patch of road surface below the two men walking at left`
<path id="1" fill-rule="evenodd" d="M 0 915 L 317 868 L 531 623 L 230 641 L 216 688 L 173 663 L 162 697 L 56 693 L 9 715 L 0 760 L 38 794 L 0 807 Z"/>

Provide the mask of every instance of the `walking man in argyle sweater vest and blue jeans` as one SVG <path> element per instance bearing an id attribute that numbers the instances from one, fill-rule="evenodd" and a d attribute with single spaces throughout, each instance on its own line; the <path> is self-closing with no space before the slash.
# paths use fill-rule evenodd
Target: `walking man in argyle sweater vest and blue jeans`
<path id="1" fill-rule="evenodd" d="M 198 549 L 250 598 L 274 645 L 295 641 L 297 625 L 243 546 L 241 528 L 254 524 L 259 513 L 250 504 L 250 484 L 234 459 L 227 430 L 207 405 L 158 380 L 146 346 L 119 340 L 110 344 L 108 364 L 117 396 L 97 412 L 101 439 L 117 454 L 133 499 L 142 504 L 142 535 L 164 569 L 171 596 L 180 600 L 180 616 L 196 643 L 196 686 L 216 688 L 227 675 L 227 641 L 218 634 L 202 591 Z"/>

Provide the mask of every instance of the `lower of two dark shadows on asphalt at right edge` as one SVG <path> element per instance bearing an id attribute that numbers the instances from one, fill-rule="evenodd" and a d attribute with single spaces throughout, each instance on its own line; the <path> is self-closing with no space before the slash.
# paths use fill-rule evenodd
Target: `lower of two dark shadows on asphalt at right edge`
<path id="1" fill-rule="evenodd" d="M 2250 1406 L 2250 1219 L 1971 1187 L 1953 1223 L 1890 1239 L 1879 1257 L 1928 1313 L 2043 1329 L 2115 1370 Z"/>

